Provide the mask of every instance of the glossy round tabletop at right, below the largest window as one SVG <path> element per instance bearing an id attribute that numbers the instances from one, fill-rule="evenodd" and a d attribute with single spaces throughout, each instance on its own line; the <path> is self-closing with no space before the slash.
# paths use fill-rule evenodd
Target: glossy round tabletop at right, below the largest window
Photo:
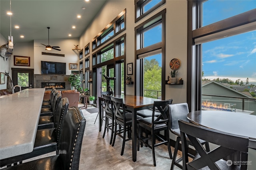
<path id="1" fill-rule="evenodd" d="M 230 111 L 200 110 L 188 113 L 187 118 L 194 124 L 249 137 L 249 148 L 256 149 L 256 115 Z"/>

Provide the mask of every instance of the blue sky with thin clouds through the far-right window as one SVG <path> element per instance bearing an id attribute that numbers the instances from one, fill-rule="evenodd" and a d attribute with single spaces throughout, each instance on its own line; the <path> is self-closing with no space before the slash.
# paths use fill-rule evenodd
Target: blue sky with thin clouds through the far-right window
<path id="1" fill-rule="evenodd" d="M 209 0 L 203 5 L 203 25 L 256 8 L 256 0 Z M 204 77 L 256 82 L 256 31 L 203 44 Z"/>

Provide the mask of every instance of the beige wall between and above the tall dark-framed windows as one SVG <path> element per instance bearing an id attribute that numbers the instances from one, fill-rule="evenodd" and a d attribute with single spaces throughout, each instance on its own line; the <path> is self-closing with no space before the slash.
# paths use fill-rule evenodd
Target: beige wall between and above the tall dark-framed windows
<path id="1" fill-rule="evenodd" d="M 126 64 L 134 63 L 134 27 L 152 17 L 154 14 L 166 8 L 166 77 L 170 76 L 169 63 L 173 58 L 181 61 L 177 78 L 184 80 L 183 85 L 166 84 L 166 99 L 173 99 L 173 103 L 186 102 L 186 72 L 187 72 L 187 1 L 186 0 L 168 0 L 166 3 L 152 12 L 149 16 L 135 23 L 134 1 L 132 0 L 109 0 L 103 6 L 102 10 L 91 25 L 80 37 L 79 45 L 84 48 L 90 43 L 90 68 L 92 68 L 92 39 L 96 37 L 122 10 L 126 9 Z M 120 35 L 118 35 L 120 36 Z M 134 69 L 134 68 L 133 68 Z M 135 73 L 135 69 L 133 70 Z M 131 76 L 134 80 L 134 74 Z M 134 94 L 135 84 L 126 86 L 126 94 Z"/>

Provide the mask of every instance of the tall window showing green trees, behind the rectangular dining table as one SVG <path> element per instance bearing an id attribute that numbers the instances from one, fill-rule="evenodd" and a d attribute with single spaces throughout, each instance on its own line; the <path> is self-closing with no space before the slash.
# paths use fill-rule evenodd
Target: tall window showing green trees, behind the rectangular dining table
<path id="1" fill-rule="evenodd" d="M 137 96 L 165 98 L 165 12 L 135 28 Z"/>

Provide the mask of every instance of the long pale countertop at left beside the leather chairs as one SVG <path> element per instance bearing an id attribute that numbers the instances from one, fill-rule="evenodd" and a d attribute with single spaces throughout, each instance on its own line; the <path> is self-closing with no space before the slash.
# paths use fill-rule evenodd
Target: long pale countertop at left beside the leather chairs
<path id="1" fill-rule="evenodd" d="M 0 159 L 33 151 L 44 88 L 0 96 Z"/>

